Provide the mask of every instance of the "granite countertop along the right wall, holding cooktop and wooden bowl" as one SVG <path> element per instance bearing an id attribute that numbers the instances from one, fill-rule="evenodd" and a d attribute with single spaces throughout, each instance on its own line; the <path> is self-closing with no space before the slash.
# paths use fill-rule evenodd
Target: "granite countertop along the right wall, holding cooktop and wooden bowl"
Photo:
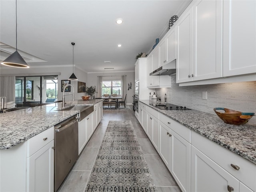
<path id="1" fill-rule="evenodd" d="M 198 110 L 160 110 L 150 105 L 150 100 L 140 102 L 256 164 L 256 126 L 230 125 L 215 114 Z"/>

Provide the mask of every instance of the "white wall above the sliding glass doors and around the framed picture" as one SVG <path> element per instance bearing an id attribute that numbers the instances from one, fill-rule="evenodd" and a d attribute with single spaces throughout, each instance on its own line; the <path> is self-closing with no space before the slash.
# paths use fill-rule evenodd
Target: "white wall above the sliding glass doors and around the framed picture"
<path id="1" fill-rule="evenodd" d="M 58 75 L 58 100 L 62 100 L 63 92 L 61 92 L 61 80 L 68 80 L 68 78 L 72 74 L 72 66 L 60 66 L 60 67 L 49 67 L 48 66 L 48 67 L 44 67 L 44 68 L 30 67 L 28 69 L 22 69 L 22 68 L 2 69 L 1 68 L 1 70 L 0 70 L 0 75 L 16 74 L 16 76 L 19 76 L 19 74 L 22 74 L 25 76 L 30 76 L 30 75 L 40 76 L 42 74 L 43 75 L 46 75 L 46 74 L 53 75 L 54 73 L 56 73 L 56 74 L 60 73 L 60 75 Z M 75 67 L 74 74 L 78 78 L 78 81 L 86 82 L 87 74 L 85 72 L 83 72 L 82 70 Z M 75 99 L 79 100 L 79 99 L 81 99 L 81 96 L 86 95 L 86 93 L 78 93 L 77 92 L 78 81 L 71 81 L 71 84 L 74 86 Z M 65 92 L 65 94 L 70 94 L 70 93 L 72 93 L 72 90 L 71 90 L 71 92 Z M 72 96 L 67 96 L 66 100 L 70 100 L 71 98 L 72 98 Z"/>

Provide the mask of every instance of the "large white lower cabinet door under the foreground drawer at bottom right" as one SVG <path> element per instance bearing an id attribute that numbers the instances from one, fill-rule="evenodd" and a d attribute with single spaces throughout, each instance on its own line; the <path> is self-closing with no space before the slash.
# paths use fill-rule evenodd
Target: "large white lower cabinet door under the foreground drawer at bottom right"
<path id="1" fill-rule="evenodd" d="M 239 181 L 191 146 L 191 191 L 238 192 Z"/>

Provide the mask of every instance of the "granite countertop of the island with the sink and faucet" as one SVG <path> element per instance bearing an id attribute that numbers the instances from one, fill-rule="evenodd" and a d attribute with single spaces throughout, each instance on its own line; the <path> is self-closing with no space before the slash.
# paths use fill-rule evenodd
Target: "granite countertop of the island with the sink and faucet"
<path id="1" fill-rule="evenodd" d="M 94 105 L 101 100 L 75 100 L 72 105 Z M 9 149 L 80 112 L 60 109 L 62 102 L 1 113 L 0 149 Z"/>

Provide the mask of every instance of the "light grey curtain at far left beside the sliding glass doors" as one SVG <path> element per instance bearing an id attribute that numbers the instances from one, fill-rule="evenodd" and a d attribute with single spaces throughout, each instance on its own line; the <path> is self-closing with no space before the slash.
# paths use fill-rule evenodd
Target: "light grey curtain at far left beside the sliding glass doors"
<path id="1" fill-rule="evenodd" d="M 15 76 L 0 77 L 0 96 L 6 97 L 6 102 L 15 101 Z"/>

